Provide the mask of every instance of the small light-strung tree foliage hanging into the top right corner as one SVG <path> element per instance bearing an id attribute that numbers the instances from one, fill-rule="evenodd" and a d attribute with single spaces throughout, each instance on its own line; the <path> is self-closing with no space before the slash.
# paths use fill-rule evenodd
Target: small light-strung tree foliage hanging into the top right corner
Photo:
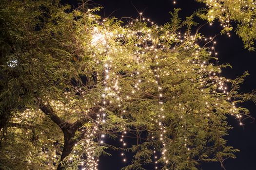
<path id="1" fill-rule="evenodd" d="M 211 24 L 217 19 L 223 27 L 221 34 L 233 30 L 242 38 L 244 47 L 249 51 L 254 51 L 256 40 L 256 2 L 254 0 L 197 0 L 205 3 L 209 8 L 201 18 L 208 20 Z M 232 24 L 234 22 L 235 24 Z"/>

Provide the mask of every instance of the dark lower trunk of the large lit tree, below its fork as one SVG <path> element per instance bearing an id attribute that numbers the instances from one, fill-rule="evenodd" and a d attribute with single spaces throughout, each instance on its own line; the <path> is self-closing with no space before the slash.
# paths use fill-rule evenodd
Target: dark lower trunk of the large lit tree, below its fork
<path id="1" fill-rule="evenodd" d="M 76 140 L 73 139 L 73 137 L 75 136 L 75 132 L 76 130 L 72 128 L 72 126 L 70 126 L 70 124 L 65 125 L 66 127 L 64 127 L 62 129 L 63 134 L 64 134 L 64 147 L 61 153 L 61 157 L 60 157 L 60 161 L 59 161 L 59 165 L 57 167 L 57 170 L 63 170 L 64 167 L 61 167 L 61 161 L 63 161 L 65 159 L 65 157 L 67 157 L 71 152 L 73 147 L 75 146 Z"/>

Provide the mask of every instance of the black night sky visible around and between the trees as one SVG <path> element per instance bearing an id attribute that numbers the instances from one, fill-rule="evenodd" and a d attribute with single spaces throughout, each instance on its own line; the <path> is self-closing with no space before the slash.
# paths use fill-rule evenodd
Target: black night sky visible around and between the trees
<path id="1" fill-rule="evenodd" d="M 62 0 L 62 2 L 77 6 L 79 1 Z M 173 0 L 94 0 L 94 2 L 103 6 L 99 13 L 102 17 L 112 15 L 118 18 L 136 18 L 138 17 L 137 8 L 139 12 L 143 11 L 144 17 L 150 18 L 158 25 L 170 21 L 169 11 L 173 11 L 174 8 L 181 8 L 180 16 L 186 17 L 190 16 L 196 9 L 205 7 L 194 0 L 176 0 L 176 4 L 173 3 Z M 199 25 L 206 23 L 206 21 L 198 18 L 197 21 Z M 209 37 L 219 34 L 220 30 L 219 23 L 216 21 L 213 26 L 205 25 L 201 29 L 201 33 Z M 245 80 L 241 90 L 250 92 L 256 89 L 256 52 L 245 50 L 242 40 L 234 32 L 231 33 L 230 38 L 227 35 L 218 35 L 216 41 L 216 51 L 220 63 L 230 63 L 233 67 L 233 69 L 225 69 L 222 75 L 236 78 L 248 70 L 250 76 Z M 256 105 L 248 103 L 246 106 L 250 109 L 251 115 L 256 118 Z M 230 135 L 226 139 L 229 140 L 229 145 L 239 149 L 240 152 L 236 153 L 236 159 L 228 159 L 224 162 L 226 170 L 256 170 L 256 122 L 245 121 L 244 127 L 238 125 L 235 118 L 229 118 L 229 122 L 234 126 L 234 129 L 229 132 Z M 113 153 L 113 156 L 101 157 L 98 170 L 120 170 L 125 164 L 122 163 L 119 155 L 120 153 Z M 219 163 L 203 164 L 202 169 L 221 170 Z"/>

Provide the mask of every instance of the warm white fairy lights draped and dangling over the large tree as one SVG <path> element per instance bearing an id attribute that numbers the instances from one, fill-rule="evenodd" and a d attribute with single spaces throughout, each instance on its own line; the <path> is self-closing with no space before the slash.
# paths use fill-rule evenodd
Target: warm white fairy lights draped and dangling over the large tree
<path id="1" fill-rule="evenodd" d="M 176 1 L 174 1 L 174 3 L 176 3 Z M 256 5 L 255 3 L 253 3 L 254 5 Z M 210 4 L 213 5 L 213 4 Z M 95 18 L 94 15 L 90 14 L 89 17 L 91 18 Z M 184 72 L 187 73 L 188 71 L 192 71 L 192 72 L 196 72 L 199 75 L 204 75 L 203 76 L 199 76 L 197 77 L 197 80 L 195 79 L 191 79 L 191 82 L 200 82 L 199 85 L 197 85 L 197 88 L 203 93 L 204 89 L 208 86 L 214 86 L 216 89 L 212 91 L 212 93 L 217 93 L 222 92 L 223 94 L 225 94 L 226 96 L 229 95 L 228 92 L 228 83 L 229 80 L 228 79 L 224 79 L 222 77 L 220 77 L 220 73 L 221 73 L 221 68 L 217 68 L 217 70 L 215 69 L 211 69 L 210 71 L 208 70 L 208 68 L 210 66 L 212 66 L 211 63 L 207 63 L 206 61 L 203 61 L 200 59 L 200 51 L 202 48 L 199 47 L 199 45 L 197 44 L 197 41 L 210 41 L 213 42 L 213 47 L 209 48 L 209 55 L 214 54 L 215 56 L 217 55 L 217 52 L 215 51 L 214 48 L 214 44 L 216 44 L 216 41 L 213 41 L 212 37 L 209 38 L 203 38 L 203 37 L 195 37 L 193 35 L 187 35 L 186 33 L 181 34 L 174 34 L 174 33 L 166 33 L 164 36 L 159 37 L 159 43 L 156 45 L 156 39 L 154 39 L 153 35 L 151 34 L 151 29 L 152 28 L 148 28 L 148 29 L 141 29 L 141 30 L 137 30 L 134 31 L 134 27 L 133 25 L 136 24 L 136 22 L 146 22 L 148 24 L 153 25 L 154 22 L 151 21 L 149 18 L 145 18 L 142 16 L 142 13 L 139 13 L 139 18 L 140 19 L 134 19 L 132 22 L 130 22 L 128 25 L 126 25 L 125 27 L 121 27 L 122 32 L 123 33 L 119 33 L 119 32 L 111 32 L 107 29 L 103 29 L 103 30 L 99 30 L 98 27 L 94 27 L 92 29 L 92 39 L 91 39 L 91 46 L 93 49 L 95 49 L 95 51 L 97 51 L 95 54 L 93 54 L 94 57 L 94 62 L 96 64 L 102 64 L 102 68 L 104 70 L 104 74 L 103 74 L 103 80 L 102 80 L 102 86 L 103 86 L 103 90 L 101 91 L 101 100 L 102 100 L 102 105 L 101 108 L 99 110 L 98 113 L 98 118 L 97 120 L 95 120 L 95 124 L 93 127 L 90 128 L 86 128 L 86 129 L 82 129 L 81 128 L 81 132 L 84 133 L 85 138 L 80 140 L 74 147 L 72 154 L 69 155 L 69 161 L 72 162 L 74 161 L 74 159 L 78 159 L 80 161 L 80 166 L 82 167 L 82 170 L 98 170 L 98 157 L 96 156 L 95 153 L 95 149 L 96 149 L 96 139 L 94 137 L 95 134 L 98 133 L 99 129 L 104 126 L 104 124 L 107 123 L 107 114 L 106 114 L 106 107 L 107 107 L 107 103 L 114 103 L 114 101 L 112 101 L 112 98 L 110 98 L 109 96 L 112 96 L 114 100 L 117 100 L 119 102 L 124 102 L 125 100 L 129 101 L 130 98 L 132 98 L 132 95 L 136 95 L 137 93 L 139 93 L 141 91 L 141 88 L 139 86 L 139 84 L 143 81 L 146 82 L 152 82 L 152 83 L 156 83 L 157 87 L 158 87 L 158 107 L 159 110 L 158 115 L 154 117 L 154 119 L 152 118 L 152 120 L 154 122 L 156 122 L 158 124 L 158 129 L 159 129 L 159 136 L 155 136 L 154 134 L 151 134 L 151 141 L 154 142 L 155 138 L 158 138 L 161 141 L 161 151 L 160 154 L 161 156 L 158 157 L 158 150 L 154 147 L 153 148 L 153 154 L 154 154 L 154 160 L 155 160 L 155 169 L 160 169 L 161 167 L 158 166 L 158 160 L 162 159 L 163 162 L 165 164 L 168 164 L 168 159 L 167 159 L 167 149 L 166 149 L 166 142 L 165 142 L 165 116 L 164 116 L 164 102 L 163 102 L 163 98 L 165 98 L 166 96 L 164 96 L 163 91 L 162 91 L 162 87 L 160 85 L 160 80 L 162 77 L 166 76 L 170 76 L 170 71 L 168 70 L 164 70 L 161 69 L 160 67 L 156 67 L 153 70 L 151 68 L 149 68 L 146 65 L 146 62 L 143 61 L 144 56 L 146 55 L 147 52 L 151 52 L 151 51 L 155 51 L 156 53 L 158 53 L 159 51 L 172 51 L 177 47 L 165 47 L 163 44 L 161 44 L 160 42 L 163 41 L 164 39 L 172 39 L 174 41 L 177 41 L 179 43 L 183 43 L 186 41 L 186 39 L 192 40 L 192 42 L 195 42 L 195 44 L 189 44 L 186 48 L 192 48 L 197 46 L 197 50 L 195 51 L 195 53 L 192 53 L 193 59 L 191 60 L 187 60 L 186 65 L 193 65 L 193 66 L 197 66 L 197 70 L 193 68 L 193 70 L 185 70 Z M 96 23 L 98 24 L 98 26 L 105 26 L 104 22 L 106 21 L 106 19 L 103 19 L 102 21 L 96 20 Z M 227 27 L 229 23 L 229 20 L 225 21 L 225 24 L 223 25 L 223 27 Z M 160 26 L 154 26 L 154 29 L 157 29 L 159 31 L 162 31 L 163 28 Z M 230 34 L 228 33 L 228 35 L 230 36 Z M 113 47 L 110 46 L 108 44 L 108 40 L 109 39 L 115 39 L 118 43 L 120 43 L 120 39 L 125 39 L 125 38 L 130 38 L 130 37 L 135 37 L 138 40 L 138 44 L 135 44 L 135 46 L 139 49 L 137 51 L 133 52 L 134 56 L 134 60 L 136 62 L 137 65 L 140 65 L 141 70 L 135 70 L 134 73 L 132 73 L 130 76 L 131 77 L 139 77 L 142 72 L 147 72 L 147 74 L 149 74 L 148 77 L 140 77 L 139 79 L 135 79 L 135 83 L 133 86 L 133 90 L 131 92 L 128 92 L 130 95 L 125 95 L 122 96 L 121 91 L 123 91 L 123 89 L 121 89 L 121 87 L 119 87 L 118 85 L 118 79 L 120 78 L 119 75 L 117 73 L 115 73 L 114 71 L 111 72 L 112 69 L 115 69 L 115 66 L 113 65 L 113 60 L 115 60 L 113 58 L 113 60 L 110 57 L 110 53 L 115 53 L 115 52 L 120 52 L 121 50 L 119 49 L 119 51 L 117 49 L 112 49 Z M 117 40 L 118 39 L 118 40 Z M 114 40 L 114 41 L 115 41 Z M 148 44 L 152 44 L 151 46 L 149 46 Z M 105 61 L 100 61 L 100 59 L 97 58 L 97 56 L 102 57 L 102 55 L 104 55 L 105 57 Z M 99 58 L 100 58 L 99 57 Z M 154 64 L 159 65 L 158 61 L 161 62 L 161 60 L 158 58 L 158 55 L 155 56 L 156 58 L 154 58 Z M 216 57 L 217 59 L 217 57 Z M 127 67 L 131 67 L 129 64 L 127 65 Z M 181 68 L 179 68 L 179 65 L 177 65 L 177 69 L 175 70 L 177 73 L 183 71 L 181 70 Z M 145 73 L 146 74 L 146 73 Z M 153 76 L 150 76 L 152 75 Z M 116 76 L 116 77 L 114 77 Z M 208 77 L 206 77 L 208 76 Z M 100 77 L 97 73 L 97 79 L 98 77 Z M 153 78 L 152 78 L 153 77 Z M 148 80 L 146 80 L 146 78 Z M 142 80 L 144 79 L 144 80 Z M 174 85 L 175 86 L 175 85 Z M 114 89 L 114 90 L 113 90 Z M 84 94 L 85 92 L 83 91 L 82 88 L 78 88 L 78 91 L 81 92 L 81 94 Z M 114 92 L 113 92 L 114 91 Z M 69 98 L 69 95 L 72 96 L 72 94 L 70 92 L 66 92 L 65 93 L 67 95 L 67 99 Z M 177 92 L 176 94 L 177 96 L 179 95 L 179 93 Z M 176 98 L 176 96 L 173 96 L 173 98 Z M 49 99 L 50 100 L 50 99 Z M 218 107 L 218 98 L 216 98 L 216 103 L 214 104 L 213 102 L 205 102 L 205 106 L 206 108 L 211 108 L 211 107 Z M 230 97 L 227 97 L 227 101 L 230 101 L 232 103 L 232 107 L 230 108 L 230 114 L 231 115 L 235 115 L 236 118 L 239 120 L 240 125 L 242 125 L 242 114 L 238 112 L 238 109 L 236 108 L 236 105 L 234 102 L 232 102 L 232 99 Z M 80 112 L 81 110 L 76 109 L 74 107 L 71 107 L 71 105 L 76 104 L 76 101 L 69 101 L 70 103 L 66 103 L 63 104 L 63 102 L 60 101 L 56 101 L 56 100 L 51 100 L 49 103 L 52 106 L 53 110 L 57 113 L 69 113 L 69 114 L 75 114 L 77 112 Z M 83 102 L 85 103 L 85 108 L 82 108 L 83 112 L 85 114 L 90 112 L 90 107 L 91 107 L 91 103 L 88 102 L 88 100 L 86 98 L 83 99 Z M 96 103 L 100 103 L 100 101 L 95 101 L 94 104 Z M 118 107 L 122 108 L 121 104 L 118 104 Z M 188 107 L 185 104 L 181 104 L 178 103 L 178 108 L 184 112 L 184 110 L 186 109 L 186 107 Z M 126 109 L 121 109 L 122 112 L 126 112 Z M 31 110 L 31 109 L 27 109 L 24 112 L 20 113 L 19 116 L 14 117 L 14 121 L 15 122 L 19 122 L 22 123 L 24 122 L 24 120 L 29 120 L 29 119 L 34 119 L 36 115 L 36 111 L 35 110 Z M 121 114 L 120 114 L 121 115 Z M 185 116 L 185 114 L 180 116 L 180 119 L 183 119 Z M 206 115 L 207 117 L 211 117 L 211 115 L 208 113 Z M 120 118 L 123 118 L 122 116 Z M 93 120 L 92 120 L 93 121 Z M 28 121 L 29 123 L 29 121 Z M 119 133 L 121 133 L 119 141 L 122 143 L 122 146 L 125 148 L 128 144 L 124 139 L 124 136 L 127 134 L 127 129 L 126 129 L 126 125 L 125 124 L 121 124 L 121 131 Z M 186 127 L 184 127 L 186 128 Z M 100 132 L 100 136 L 97 139 L 98 140 L 98 146 L 104 145 L 104 138 L 107 137 L 107 135 L 104 132 Z M 40 135 L 43 135 L 44 132 L 41 132 Z M 28 133 L 26 134 L 28 135 Z M 188 138 L 187 136 L 184 136 L 184 146 L 187 148 L 187 151 L 190 150 L 190 147 L 188 146 Z M 44 144 L 42 144 L 42 147 L 40 148 L 40 156 L 41 157 L 46 157 L 47 158 L 47 165 L 50 168 L 53 168 L 54 166 L 52 165 L 56 165 L 56 163 L 58 162 L 59 156 L 58 156 L 58 152 L 56 150 L 54 151 L 47 151 L 46 148 L 48 148 L 47 143 L 49 142 L 42 142 Z M 49 144 L 48 144 L 49 145 Z M 82 146 L 82 149 L 79 149 L 79 146 Z M 53 146 L 54 147 L 54 146 Z M 121 151 L 121 157 L 122 157 L 122 161 L 126 162 L 128 161 L 125 153 L 123 151 Z M 40 157 L 39 156 L 39 157 Z M 29 163 L 32 163 L 32 159 L 31 156 L 29 156 L 27 158 L 27 161 Z M 160 165 L 162 166 L 162 165 Z M 165 170 L 167 169 L 167 166 L 164 166 Z"/>

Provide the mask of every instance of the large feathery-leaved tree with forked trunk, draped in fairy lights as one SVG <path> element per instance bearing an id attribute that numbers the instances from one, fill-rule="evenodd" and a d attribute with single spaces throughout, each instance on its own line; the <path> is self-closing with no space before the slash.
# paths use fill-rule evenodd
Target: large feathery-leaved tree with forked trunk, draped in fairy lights
<path id="1" fill-rule="evenodd" d="M 235 158 L 226 119 L 242 125 L 249 111 L 238 103 L 256 102 L 255 93 L 238 92 L 247 72 L 220 76 L 228 65 L 213 64 L 203 36 L 191 33 L 193 16 L 181 21 L 176 9 L 163 26 L 142 17 L 124 26 L 84 4 L 2 4 L 2 169 L 96 170 L 106 149 L 135 154 L 124 170 L 197 170 Z"/>

